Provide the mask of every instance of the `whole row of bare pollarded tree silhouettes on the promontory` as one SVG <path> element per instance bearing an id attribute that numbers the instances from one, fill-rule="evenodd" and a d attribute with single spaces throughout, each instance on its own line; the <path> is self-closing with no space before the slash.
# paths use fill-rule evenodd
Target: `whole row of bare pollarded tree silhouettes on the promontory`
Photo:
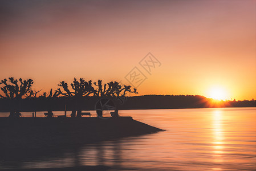
<path id="1" fill-rule="evenodd" d="M 47 111 L 47 113 L 44 113 L 47 117 L 52 117 L 52 111 L 58 109 L 59 101 L 57 97 L 61 95 L 63 98 L 59 99 L 67 97 L 65 100 L 68 101 L 68 109 L 72 111 L 71 117 L 82 117 L 84 97 L 91 95 L 98 97 L 98 99 L 99 97 L 107 97 L 110 100 L 116 100 L 125 97 L 128 92 L 137 93 L 137 90 L 135 88 L 132 89 L 131 86 L 125 86 L 119 82 L 103 84 L 100 79 L 92 83 L 92 80 L 87 82 L 84 78 L 79 80 L 74 78 L 74 81 L 70 84 L 71 88 L 68 87 L 68 83 L 62 81 L 58 84 L 60 88 L 55 91 L 51 89 L 50 92 L 43 92 L 42 94 L 39 93 L 40 91 L 32 90 L 33 83 L 32 79 L 23 80 L 20 78 L 17 80 L 9 78 L 1 80 L 0 86 L 2 86 L 3 95 L 0 94 L 0 98 L 4 105 L 2 105 L 0 111 L 5 110 L 5 107 L 7 107 L 10 112 L 9 117 L 19 117 L 21 116 L 20 112 L 25 109 L 29 111 L 40 111 L 42 109 Z M 38 102 L 36 103 L 36 101 Z M 96 112 L 97 116 L 103 115 L 102 109 L 96 110 Z M 116 105 L 115 112 L 112 114 L 112 117 L 117 116 L 118 105 Z"/>

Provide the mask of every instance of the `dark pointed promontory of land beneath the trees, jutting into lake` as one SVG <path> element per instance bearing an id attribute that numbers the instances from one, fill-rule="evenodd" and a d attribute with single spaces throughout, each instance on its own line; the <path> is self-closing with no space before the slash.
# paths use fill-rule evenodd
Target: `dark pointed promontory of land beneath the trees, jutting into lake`
<path id="1" fill-rule="evenodd" d="M 162 129 L 133 120 L 132 117 L 1 117 L 0 148 L 70 146 L 159 131 Z"/>

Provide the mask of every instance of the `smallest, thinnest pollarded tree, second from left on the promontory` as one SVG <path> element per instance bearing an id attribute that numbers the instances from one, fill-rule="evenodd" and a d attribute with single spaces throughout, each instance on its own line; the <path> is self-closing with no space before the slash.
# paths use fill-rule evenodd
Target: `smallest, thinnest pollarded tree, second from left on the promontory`
<path id="1" fill-rule="evenodd" d="M 39 98 L 45 99 L 46 100 L 46 104 L 47 104 L 47 117 L 52 117 L 53 113 L 52 113 L 52 102 L 55 99 L 55 97 L 58 97 L 60 95 L 60 92 L 55 90 L 54 93 L 52 93 L 52 89 L 50 90 L 49 93 L 44 92 L 43 95 L 40 95 Z"/>

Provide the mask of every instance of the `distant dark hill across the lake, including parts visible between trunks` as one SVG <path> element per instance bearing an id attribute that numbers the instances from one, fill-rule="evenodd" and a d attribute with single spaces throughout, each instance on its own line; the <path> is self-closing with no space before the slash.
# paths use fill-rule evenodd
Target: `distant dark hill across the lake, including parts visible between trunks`
<path id="1" fill-rule="evenodd" d="M 95 110 L 95 104 L 99 97 L 83 97 L 78 103 L 82 109 Z M 21 111 L 47 111 L 49 101 L 43 98 L 23 99 L 19 104 Z M 64 111 L 64 105 L 67 111 L 74 107 L 74 100 L 68 97 L 56 97 L 51 100 L 53 111 Z M 132 96 L 116 100 L 119 109 L 174 109 L 174 108 L 216 108 L 216 107 L 256 107 L 255 100 L 243 101 L 218 101 L 208 99 L 199 95 L 144 95 Z M 0 99 L 0 111 L 10 111 L 10 101 Z"/>

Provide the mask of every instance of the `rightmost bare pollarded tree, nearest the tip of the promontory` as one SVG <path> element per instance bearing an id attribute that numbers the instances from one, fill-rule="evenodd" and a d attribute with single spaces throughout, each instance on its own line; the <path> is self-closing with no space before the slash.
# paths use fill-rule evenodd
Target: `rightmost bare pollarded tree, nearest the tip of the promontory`
<path id="1" fill-rule="evenodd" d="M 131 86 L 125 86 L 121 85 L 119 82 L 109 82 L 107 84 L 104 84 L 102 86 L 102 80 L 98 80 L 97 83 L 94 82 L 94 85 L 97 87 L 94 89 L 94 96 L 97 97 L 109 97 L 110 99 L 113 99 L 113 101 L 116 100 L 123 100 L 122 98 L 125 98 L 127 95 L 127 92 L 131 93 L 138 93 L 137 89 L 133 88 L 131 89 Z M 103 111 L 96 110 L 97 116 L 102 117 Z M 112 117 L 118 116 L 118 103 L 115 103 L 115 112 Z"/>

